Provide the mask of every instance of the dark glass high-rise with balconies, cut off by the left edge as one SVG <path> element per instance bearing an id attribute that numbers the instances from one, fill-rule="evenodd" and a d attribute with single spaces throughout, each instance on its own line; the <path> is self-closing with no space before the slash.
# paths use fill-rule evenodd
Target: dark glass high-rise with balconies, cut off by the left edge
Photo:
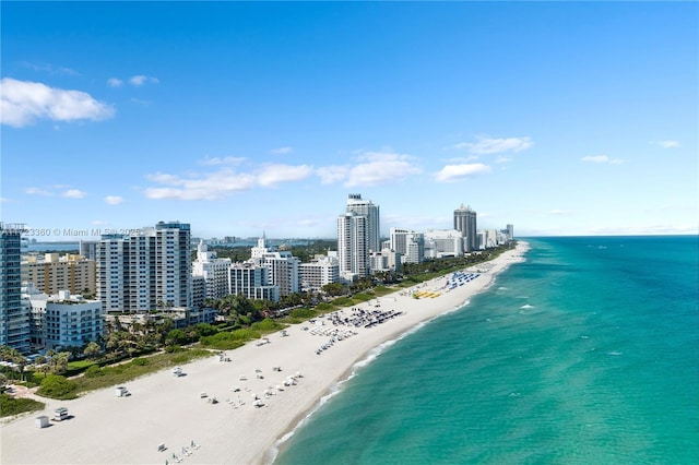
<path id="1" fill-rule="evenodd" d="M 21 247 L 24 225 L 0 222 L 0 344 L 29 351 L 31 312 L 22 305 Z"/>

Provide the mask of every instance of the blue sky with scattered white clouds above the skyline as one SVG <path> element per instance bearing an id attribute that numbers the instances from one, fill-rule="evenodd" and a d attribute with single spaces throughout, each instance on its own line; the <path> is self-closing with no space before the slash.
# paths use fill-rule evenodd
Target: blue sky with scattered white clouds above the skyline
<path id="1" fill-rule="evenodd" d="M 697 234 L 696 2 L 5 2 L 1 218 Z M 43 239 L 43 238 L 39 238 Z"/>

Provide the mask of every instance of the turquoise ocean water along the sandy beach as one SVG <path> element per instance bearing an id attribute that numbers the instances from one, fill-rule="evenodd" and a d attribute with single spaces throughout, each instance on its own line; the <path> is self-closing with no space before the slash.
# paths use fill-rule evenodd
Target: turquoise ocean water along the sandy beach
<path id="1" fill-rule="evenodd" d="M 526 240 L 526 262 L 357 370 L 275 463 L 699 463 L 699 238 Z"/>

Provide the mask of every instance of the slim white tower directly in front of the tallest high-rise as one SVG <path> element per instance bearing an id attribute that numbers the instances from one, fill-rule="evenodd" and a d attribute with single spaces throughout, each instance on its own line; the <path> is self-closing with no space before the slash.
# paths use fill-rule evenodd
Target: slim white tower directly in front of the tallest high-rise
<path id="1" fill-rule="evenodd" d="M 369 274 L 368 241 L 367 216 L 347 212 L 337 217 L 337 259 L 343 278 Z"/>

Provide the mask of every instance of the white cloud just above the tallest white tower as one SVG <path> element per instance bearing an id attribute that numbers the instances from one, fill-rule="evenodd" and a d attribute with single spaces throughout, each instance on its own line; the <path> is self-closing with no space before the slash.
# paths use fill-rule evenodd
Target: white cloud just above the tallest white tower
<path id="1" fill-rule="evenodd" d="M 327 166 L 316 170 L 324 184 L 344 181 L 345 187 L 379 186 L 400 181 L 423 170 L 413 164 L 410 155 L 392 152 L 366 152 L 358 164 Z"/>

